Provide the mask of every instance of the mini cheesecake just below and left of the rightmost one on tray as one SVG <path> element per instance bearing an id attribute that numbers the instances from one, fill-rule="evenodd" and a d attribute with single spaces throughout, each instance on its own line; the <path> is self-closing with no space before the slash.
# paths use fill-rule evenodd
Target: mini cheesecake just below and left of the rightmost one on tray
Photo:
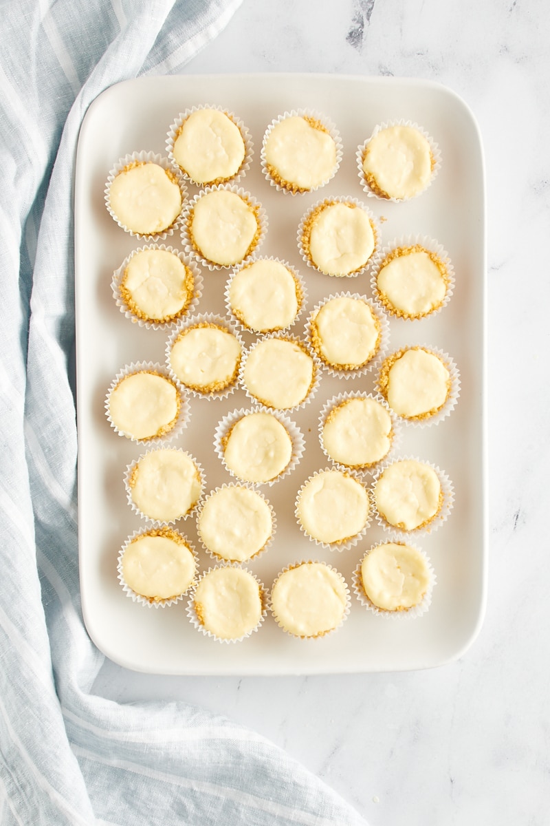
<path id="1" fill-rule="evenodd" d="M 322 449 L 347 468 L 372 468 L 388 455 L 393 437 L 387 406 L 373 396 L 344 397 L 322 415 Z"/>

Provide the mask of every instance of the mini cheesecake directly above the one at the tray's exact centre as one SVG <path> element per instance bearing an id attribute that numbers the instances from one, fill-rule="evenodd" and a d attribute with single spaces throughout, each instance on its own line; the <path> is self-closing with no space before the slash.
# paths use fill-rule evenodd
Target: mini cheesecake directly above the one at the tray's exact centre
<path id="1" fill-rule="evenodd" d="M 303 302 L 297 276 L 277 259 L 257 259 L 228 283 L 228 308 L 247 330 L 271 333 L 294 323 Z"/>

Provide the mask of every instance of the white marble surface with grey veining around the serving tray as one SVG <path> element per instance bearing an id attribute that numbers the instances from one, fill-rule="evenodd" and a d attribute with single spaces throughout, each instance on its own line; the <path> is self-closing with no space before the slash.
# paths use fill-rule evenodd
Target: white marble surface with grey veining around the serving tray
<path id="1" fill-rule="evenodd" d="M 373 826 L 550 821 L 549 24 L 543 0 L 245 0 L 186 69 L 430 78 L 461 95 L 482 130 L 490 577 L 476 643 L 427 672 L 216 679 L 106 662 L 95 686 L 116 700 L 179 698 L 228 715 Z"/>

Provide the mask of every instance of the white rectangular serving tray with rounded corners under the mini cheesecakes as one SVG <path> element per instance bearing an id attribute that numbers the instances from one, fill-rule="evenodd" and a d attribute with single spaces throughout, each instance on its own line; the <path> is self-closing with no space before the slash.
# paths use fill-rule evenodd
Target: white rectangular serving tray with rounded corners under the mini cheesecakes
<path id="1" fill-rule="evenodd" d="M 134 150 L 165 152 L 169 126 L 179 112 L 209 103 L 235 112 L 251 131 L 255 154 L 239 184 L 269 217 L 262 255 L 286 259 L 306 279 L 308 306 L 331 293 L 350 290 L 370 296 L 369 273 L 330 278 L 313 273 L 299 256 L 296 231 L 303 212 L 325 196 L 350 195 L 367 203 L 382 222 L 383 244 L 402 235 L 428 235 L 449 252 L 456 286 L 449 306 L 431 318 L 391 321 L 390 350 L 431 344 L 458 364 L 458 405 L 439 425 L 407 427 L 402 455 L 439 465 L 454 484 L 449 520 L 418 544 L 437 576 L 430 610 L 419 619 L 376 617 L 352 593 L 350 616 L 335 634 L 299 640 L 284 634 L 268 616 L 259 633 L 242 643 L 221 644 L 200 634 L 186 615 L 186 601 L 148 609 L 125 596 L 117 580 L 121 544 L 144 526 L 125 496 L 126 465 L 143 450 L 120 438 L 106 420 L 107 388 L 125 364 L 164 361 L 167 334 L 125 319 L 112 297 L 112 272 L 142 245 L 120 229 L 106 210 L 104 188 L 115 162 Z M 341 169 L 322 190 L 292 197 L 276 192 L 261 174 L 261 140 L 283 112 L 310 108 L 335 122 L 344 145 Z M 360 188 L 355 151 L 381 121 L 415 121 L 440 146 L 442 166 L 432 186 L 409 202 L 368 198 Z M 190 187 L 191 194 L 196 188 Z M 181 246 L 177 236 L 172 243 Z M 161 674 L 270 675 L 399 671 L 439 666 L 460 657 L 475 639 L 487 592 L 485 482 L 485 192 L 482 144 L 472 113 L 448 88 L 415 79 L 315 74 L 182 75 L 119 83 L 92 103 L 78 141 L 75 192 L 76 320 L 78 375 L 78 534 L 82 610 L 98 648 L 115 662 Z M 224 313 L 227 270 L 204 270 L 199 311 Z M 298 331 L 302 333 L 304 313 Z M 296 330 L 296 328 L 294 328 Z M 293 331 L 294 331 L 293 330 Z M 247 344 L 252 341 L 247 336 Z M 290 414 L 306 437 L 299 467 L 283 482 L 263 488 L 275 507 L 275 543 L 250 568 L 270 586 L 289 563 L 318 558 L 331 563 L 350 584 L 364 550 L 383 539 L 369 528 L 365 539 L 344 553 L 317 549 L 294 520 L 294 497 L 303 481 L 327 466 L 317 439 L 317 417 L 338 392 L 367 390 L 373 377 L 348 381 L 324 374 L 313 402 Z M 230 481 L 212 447 L 223 415 L 249 406 L 242 390 L 227 401 L 191 400 L 190 426 L 172 444 L 189 449 L 206 472 L 206 492 Z M 176 527 L 197 548 L 195 520 Z M 214 565 L 200 549 L 201 570 Z"/>

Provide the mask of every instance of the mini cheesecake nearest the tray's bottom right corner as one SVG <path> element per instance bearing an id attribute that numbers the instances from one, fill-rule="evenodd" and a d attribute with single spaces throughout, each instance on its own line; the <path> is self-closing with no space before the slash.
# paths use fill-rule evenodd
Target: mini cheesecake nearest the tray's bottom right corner
<path id="1" fill-rule="evenodd" d="M 425 600 L 431 582 L 430 563 L 412 545 L 399 542 L 375 545 L 360 564 L 360 589 L 379 610 L 411 610 Z"/>

